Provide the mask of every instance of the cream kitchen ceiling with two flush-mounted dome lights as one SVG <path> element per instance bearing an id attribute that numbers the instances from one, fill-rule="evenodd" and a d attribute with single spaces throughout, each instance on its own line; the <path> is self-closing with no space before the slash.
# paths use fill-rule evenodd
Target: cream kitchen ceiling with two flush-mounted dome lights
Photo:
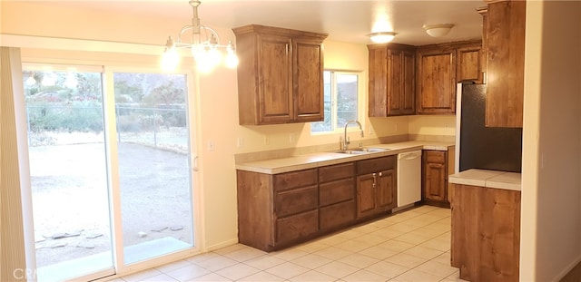
<path id="1" fill-rule="evenodd" d="M 187 0 L 77 0 L 40 1 L 47 5 L 68 5 L 109 12 L 174 17 L 190 24 L 192 8 Z M 464 1 L 244 1 L 202 0 L 201 24 L 210 27 L 238 27 L 263 24 L 329 34 L 340 42 L 370 44 L 367 34 L 379 31 L 397 33 L 394 43 L 437 44 L 481 38 L 482 17 L 476 11 L 483 0 Z M 383 23 L 387 30 L 374 26 Z M 425 33 L 424 24 L 455 24 L 451 32 L 434 38 Z M 390 26 L 389 26 L 390 25 Z"/>

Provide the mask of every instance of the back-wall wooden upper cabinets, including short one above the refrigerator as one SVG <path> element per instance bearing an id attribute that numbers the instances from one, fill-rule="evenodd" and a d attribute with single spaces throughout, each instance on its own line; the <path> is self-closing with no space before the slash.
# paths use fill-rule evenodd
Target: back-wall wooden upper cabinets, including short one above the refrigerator
<path id="1" fill-rule="evenodd" d="M 456 113 L 456 83 L 483 81 L 481 48 L 480 40 L 418 47 L 417 113 Z"/>

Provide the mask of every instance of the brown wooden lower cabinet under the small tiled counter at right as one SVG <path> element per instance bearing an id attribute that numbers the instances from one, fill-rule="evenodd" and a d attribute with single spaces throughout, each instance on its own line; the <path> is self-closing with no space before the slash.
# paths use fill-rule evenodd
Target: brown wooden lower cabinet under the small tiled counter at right
<path id="1" fill-rule="evenodd" d="M 518 281 L 520 191 L 450 185 L 451 265 L 469 281 Z"/>

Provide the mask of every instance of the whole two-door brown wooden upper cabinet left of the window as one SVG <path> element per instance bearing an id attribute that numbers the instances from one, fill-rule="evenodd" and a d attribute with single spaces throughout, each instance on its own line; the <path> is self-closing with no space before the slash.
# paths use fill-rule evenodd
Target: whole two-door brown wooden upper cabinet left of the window
<path id="1" fill-rule="evenodd" d="M 328 34 L 264 25 L 236 35 L 241 125 L 323 120 L 323 48 Z"/>

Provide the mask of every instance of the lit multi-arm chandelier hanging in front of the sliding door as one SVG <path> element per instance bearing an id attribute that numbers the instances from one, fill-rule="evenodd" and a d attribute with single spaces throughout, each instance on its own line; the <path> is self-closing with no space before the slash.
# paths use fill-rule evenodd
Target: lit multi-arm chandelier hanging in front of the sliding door
<path id="1" fill-rule="evenodd" d="M 180 63 L 179 49 L 190 48 L 196 67 L 202 73 L 209 73 L 212 69 L 222 62 L 222 52 L 225 49 L 226 56 L 224 64 L 229 68 L 235 68 L 238 65 L 238 57 L 235 53 L 234 44 L 231 41 L 226 45 L 220 44 L 220 36 L 212 28 L 200 24 L 198 16 L 198 6 L 202 4 L 199 0 L 190 0 L 192 5 L 192 24 L 182 27 L 178 34 L 177 41 L 173 41 L 172 36 L 167 39 L 165 51 L 162 56 L 162 68 L 165 71 L 172 71 Z M 190 43 L 182 42 L 182 35 L 190 31 L 192 38 Z"/>

